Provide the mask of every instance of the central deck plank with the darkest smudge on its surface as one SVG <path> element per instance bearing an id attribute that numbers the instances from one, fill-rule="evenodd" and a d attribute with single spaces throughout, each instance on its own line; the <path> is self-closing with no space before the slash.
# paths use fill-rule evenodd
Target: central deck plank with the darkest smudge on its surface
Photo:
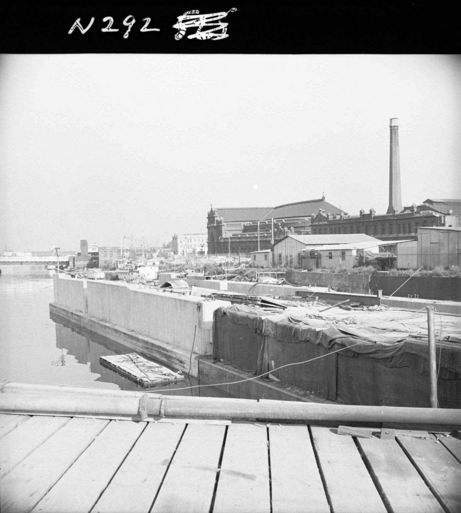
<path id="1" fill-rule="evenodd" d="M 269 513 L 269 461 L 264 424 L 228 427 L 213 513 Z"/>

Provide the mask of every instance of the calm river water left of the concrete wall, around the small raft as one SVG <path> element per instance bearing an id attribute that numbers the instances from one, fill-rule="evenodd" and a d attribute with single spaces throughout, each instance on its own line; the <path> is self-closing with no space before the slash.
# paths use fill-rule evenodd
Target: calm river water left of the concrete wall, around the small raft
<path id="1" fill-rule="evenodd" d="M 129 347 L 76 325 L 50 319 L 53 272 L 43 266 L 3 266 L 0 274 L 0 380 L 143 391 L 99 363 L 100 356 L 133 352 Z M 145 356 L 145 355 L 143 355 Z M 223 397 L 214 387 L 185 382 L 162 386 L 162 393 Z M 165 390 L 167 389 L 167 390 Z M 155 391 L 155 388 L 149 390 Z"/>

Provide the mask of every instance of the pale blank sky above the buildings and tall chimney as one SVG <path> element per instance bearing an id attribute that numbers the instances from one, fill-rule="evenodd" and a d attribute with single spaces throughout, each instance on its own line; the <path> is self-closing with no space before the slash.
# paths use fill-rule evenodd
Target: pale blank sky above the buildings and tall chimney
<path id="1" fill-rule="evenodd" d="M 461 198 L 456 55 L 0 57 L 0 250 L 159 245 L 214 207 Z"/>

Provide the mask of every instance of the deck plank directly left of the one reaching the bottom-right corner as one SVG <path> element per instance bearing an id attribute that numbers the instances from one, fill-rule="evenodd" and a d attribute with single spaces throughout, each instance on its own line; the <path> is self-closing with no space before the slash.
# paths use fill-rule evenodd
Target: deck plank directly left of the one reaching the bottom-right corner
<path id="1" fill-rule="evenodd" d="M 444 513 L 395 440 L 357 439 L 394 513 Z"/>

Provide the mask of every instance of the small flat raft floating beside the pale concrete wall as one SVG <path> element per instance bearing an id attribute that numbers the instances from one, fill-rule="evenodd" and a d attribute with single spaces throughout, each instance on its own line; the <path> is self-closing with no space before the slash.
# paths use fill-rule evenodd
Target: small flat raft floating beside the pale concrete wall
<path id="1" fill-rule="evenodd" d="M 184 381 L 181 372 L 173 372 L 136 353 L 102 356 L 99 357 L 99 362 L 143 387 L 170 385 Z"/>

